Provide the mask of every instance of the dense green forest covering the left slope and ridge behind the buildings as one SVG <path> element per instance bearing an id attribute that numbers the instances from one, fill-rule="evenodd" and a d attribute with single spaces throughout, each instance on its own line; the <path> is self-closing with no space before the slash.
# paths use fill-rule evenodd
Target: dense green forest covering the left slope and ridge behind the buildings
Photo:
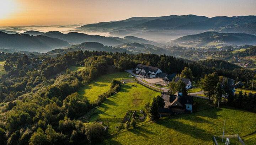
<path id="1" fill-rule="evenodd" d="M 88 44 L 91 45 L 91 44 Z M 101 47 L 101 44 L 98 44 Z M 95 51 L 74 51 L 52 58 L 47 55 L 6 55 L 6 74 L 0 79 L 0 139 L 7 143 L 29 144 L 94 144 L 103 139 L 104 128 L 99 123 L 83 125 L 78 120 L 104 101 L 95 102 L 75 93 L 83 85 L 107 72 L 109 65 L 119 71 L 135 68 L 137 64 L 157 66 L 165 73 L 181 73 L 188 67 L 195 80 L 217 71 L 232 79 L 247 81 L 255 72 L 201 62 L 178 59 L 157 54 L 127 54 Z M 221 61 L 217 61 L 221 64 Z M 70 66 L 84 65 L 84 69 L 71 72 Z M 65 74 L 57 76 L 60 72 Z M 118 84 L 113 84 L 116 90 Z M 113 92 L 116 92 L 113 90 Z M 45 131 L 44 131 L 45 130 Z M 89 132 L 88 132 L 89 130 Z M 40 140 L 37 140 L 40 139 Z M 50 142 L 50 141 L 51 142 Z"/>

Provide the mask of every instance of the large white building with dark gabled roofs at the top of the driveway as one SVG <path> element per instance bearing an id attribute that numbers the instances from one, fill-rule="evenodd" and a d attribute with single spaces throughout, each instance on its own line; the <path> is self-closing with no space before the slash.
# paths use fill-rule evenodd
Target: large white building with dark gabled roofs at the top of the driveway
<path id="1" fill-rule="evenodd" d="M 162 73 L 162 71 L 160 70 L 160 68 L 154 66 L 138 64 L 135 68 L 135 73 L 143 75 L 145 77 L 154 78 L 157 74 Z"/>

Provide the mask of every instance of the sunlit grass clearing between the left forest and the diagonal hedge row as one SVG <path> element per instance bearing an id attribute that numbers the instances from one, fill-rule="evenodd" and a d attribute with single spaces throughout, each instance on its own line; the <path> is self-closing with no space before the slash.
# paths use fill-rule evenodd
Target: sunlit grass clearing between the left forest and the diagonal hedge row
<path id="1" fill-rule="evenodd" d="M 112 80 L 121 80 L 127 76 L 129 76 L 129 74 L 125 72 L 102 75 L 98 77 L 98 79 L 92 81 L 89 85 L 79 88 L 78 93 L 86 97 L 89 101 L 94 101 L 98 95 L 101 95 L 110 89 Z"/>

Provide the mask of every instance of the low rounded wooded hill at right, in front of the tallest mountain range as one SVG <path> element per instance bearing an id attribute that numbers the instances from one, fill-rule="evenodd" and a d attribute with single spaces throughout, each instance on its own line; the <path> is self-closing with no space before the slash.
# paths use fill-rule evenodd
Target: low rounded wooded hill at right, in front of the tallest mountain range
<path id="1" fill-rule="evenodd" d="M 183 36 L 173 41 L 176 44 L 194 44 L 196 46 L 203 45 L 255 45 L 256 36 L 245 33 L 218 33 L 218 32 L 204 32 L 200 34 Z"/>

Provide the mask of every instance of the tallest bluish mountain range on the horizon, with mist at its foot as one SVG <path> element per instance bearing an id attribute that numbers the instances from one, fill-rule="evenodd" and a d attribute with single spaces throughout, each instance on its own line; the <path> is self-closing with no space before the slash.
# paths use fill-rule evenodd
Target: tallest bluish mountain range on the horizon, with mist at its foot
<path id="1" fill-rule="evenodd" d="M 131 35 L 156 40 L 165 39 L 166 37 L 173 39 L 205 31 L 256 35 L 255 26 L 256 16 L 218 16 L 208 18 L 196 15 L 170 15 L 161 17 L 132 17 L 122 21 L 84 25 L 78 29 L 107 32 L 114 37 Z"/>

